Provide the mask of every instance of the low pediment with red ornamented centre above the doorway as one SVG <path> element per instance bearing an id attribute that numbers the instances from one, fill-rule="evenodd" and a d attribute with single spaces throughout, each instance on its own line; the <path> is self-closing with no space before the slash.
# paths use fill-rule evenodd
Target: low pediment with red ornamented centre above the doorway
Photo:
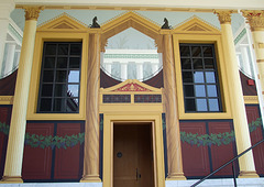
<path id="1" fill-rule="evenodd" d="M 160 92 L 161 89 L 151 87 L 136 79 L 128 79 L 110 88 L 101 88 L 103 92 Z"/>

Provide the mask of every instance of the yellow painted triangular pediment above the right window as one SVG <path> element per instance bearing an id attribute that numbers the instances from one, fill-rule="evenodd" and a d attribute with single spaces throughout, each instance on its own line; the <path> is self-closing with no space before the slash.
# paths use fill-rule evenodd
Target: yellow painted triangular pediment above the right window
<path id="1" fill-rule="evenodd" d="M 174 33 L 221 34 L 217 28 L 197 16 L 193 16 L 189 21 L 176 26 Z"/>

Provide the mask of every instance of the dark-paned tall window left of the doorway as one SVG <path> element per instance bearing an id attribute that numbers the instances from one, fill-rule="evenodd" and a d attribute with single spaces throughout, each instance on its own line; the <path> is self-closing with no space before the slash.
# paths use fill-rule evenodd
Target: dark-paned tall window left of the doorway
<path id="1" fill-rule="evenodd" d="M 78 112 L 81 43 L 44 43 L 37 112 Z"/>

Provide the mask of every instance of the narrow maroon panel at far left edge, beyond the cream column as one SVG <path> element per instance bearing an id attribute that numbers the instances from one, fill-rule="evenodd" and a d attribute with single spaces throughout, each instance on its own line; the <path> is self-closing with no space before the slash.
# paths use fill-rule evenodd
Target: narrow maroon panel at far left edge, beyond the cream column
<path id="1" fill-rule="evenodd" d="M 0 122 L 10 124 L 12 108 L 9 106 L 0 107 Z M 8 135 L 0 131 L 0 179 L 3 176 L 4 162 L 6 162 L 6 153 L 8 146 Z"/>

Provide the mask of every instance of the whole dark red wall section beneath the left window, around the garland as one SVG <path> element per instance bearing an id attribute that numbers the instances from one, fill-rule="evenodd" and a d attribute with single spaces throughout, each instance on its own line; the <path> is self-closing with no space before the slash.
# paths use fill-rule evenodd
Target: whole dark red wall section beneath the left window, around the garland
<path id="1" fill-rule="evenodd" d="M 26 132 L 65 136 L 82 133 L 85 122 L 28 122 Z M 25 182 L 78 182 L 82 175 L 84 143 L 73 147 L 31 147 L 25 145 L 22 178 Z"/>

